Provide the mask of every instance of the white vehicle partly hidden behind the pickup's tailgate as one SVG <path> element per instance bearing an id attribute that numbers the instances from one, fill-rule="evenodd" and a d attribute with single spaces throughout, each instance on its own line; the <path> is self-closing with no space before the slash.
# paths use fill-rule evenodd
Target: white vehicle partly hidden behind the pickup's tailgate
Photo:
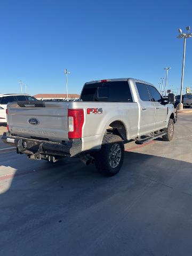
<path id="1" fill-rule="evenodd" d="M 8 102 L 37 100 L 29 94 L 0 94 L 0 124 L 6 124 L 6 108 Z"/>

